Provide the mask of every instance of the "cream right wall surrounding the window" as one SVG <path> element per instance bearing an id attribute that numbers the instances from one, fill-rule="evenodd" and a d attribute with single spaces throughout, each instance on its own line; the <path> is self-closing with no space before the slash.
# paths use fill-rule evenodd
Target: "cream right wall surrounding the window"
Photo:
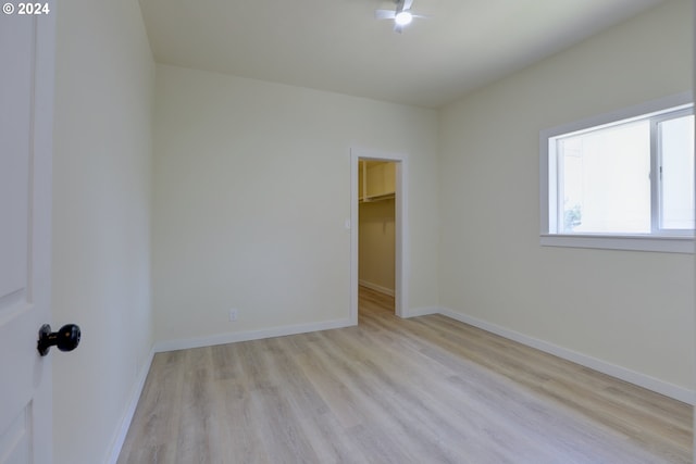
<path id="1" fill-rule="evenodd" d="M 540 129 L 692 88 L 674 0 L 442 112 L 442 305 L 683 389 L 694 256 L 539 246 Z"/>

